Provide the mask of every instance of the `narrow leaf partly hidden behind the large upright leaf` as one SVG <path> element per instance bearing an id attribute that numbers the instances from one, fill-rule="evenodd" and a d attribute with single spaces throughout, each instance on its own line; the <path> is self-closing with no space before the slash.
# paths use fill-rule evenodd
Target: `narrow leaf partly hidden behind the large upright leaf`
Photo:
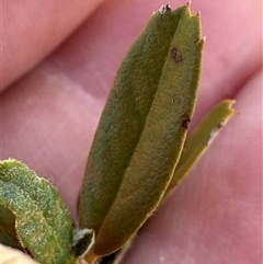
<path id="1" fill-rule="evenodd" d="M 167 193 L 175 187 L 199 160 L 219 129 L 235 114 L 233 100 L 224 100 L 216 104 L 187 137 L 182 156 Z"/>

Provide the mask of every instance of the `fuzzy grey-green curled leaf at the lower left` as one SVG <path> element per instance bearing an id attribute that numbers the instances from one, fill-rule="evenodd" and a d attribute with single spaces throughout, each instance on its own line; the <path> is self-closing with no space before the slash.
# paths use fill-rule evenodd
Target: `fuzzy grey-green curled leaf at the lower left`
<path id="1" fill-rule="evenodd" d="M 0 204 L 15 215 L 20 242 L 36 261 L 71 263 L 72 222 L 46 180 L 16 160 L 0 162 Z"/>

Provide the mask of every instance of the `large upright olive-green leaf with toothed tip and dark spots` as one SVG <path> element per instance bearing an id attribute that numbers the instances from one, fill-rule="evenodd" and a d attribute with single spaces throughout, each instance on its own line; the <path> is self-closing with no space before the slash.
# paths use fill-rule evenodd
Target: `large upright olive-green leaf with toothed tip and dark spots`
<path id="1" fill-rule="evenodd" d="M 80 227 L 96 234 L 93 255 L 123 246 L 161 200 L 193 114 L 203 43 L 198 14 L 164 5 L 125 57 L 80 196 Z"/>

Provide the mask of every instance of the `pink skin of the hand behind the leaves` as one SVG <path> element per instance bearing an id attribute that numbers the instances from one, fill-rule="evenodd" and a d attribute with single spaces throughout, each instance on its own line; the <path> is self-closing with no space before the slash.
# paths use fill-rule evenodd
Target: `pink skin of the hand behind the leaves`
<path id="1" fill-rule="evenodd" d="M 95 0 L 61 2 L 2 3 L 0 158 L 19 159 L 48 179 L 77 221 L 106 94 L 127 48 L 163 1 L 113 0 L 96 10 Z M 261 1 L 201 0 L 192 10 L 201 10 L 207 38 L 190 130 L 219 100 L 235 99 L 238 114 L 140 230 L 125 264 L 262 260 Z"/>

